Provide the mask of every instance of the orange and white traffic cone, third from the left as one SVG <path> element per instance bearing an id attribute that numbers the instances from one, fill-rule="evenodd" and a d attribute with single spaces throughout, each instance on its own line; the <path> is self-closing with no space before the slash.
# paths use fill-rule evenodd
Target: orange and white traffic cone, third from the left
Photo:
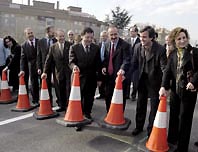
<path id="1" fill-rule="evenodd" d="M 33 116 L 38 120 L 57 117 L 59 114 L 52 110 L 49 92 L 47 89 L 46 79 L 42 79 L 40 107 L 38 112 L 34 112 Z"/>

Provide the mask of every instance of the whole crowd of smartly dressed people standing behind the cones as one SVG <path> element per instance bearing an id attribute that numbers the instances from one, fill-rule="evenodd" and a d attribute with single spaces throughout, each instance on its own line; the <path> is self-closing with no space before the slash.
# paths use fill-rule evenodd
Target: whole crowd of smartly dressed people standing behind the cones
<path id="1" fill-rule="evenodd" d="M 130 37 L 122 39 L 117 27 L 109 26 L 94 38 L 90 27 L 75 34 L 53 26 L 45 29 L 46 36 L 37 39 L 28 27 L 26 40 L 20 45 L 11 36 L 0 39 L 0 73 L 9 70 L 12 91 L 19 89 L 19 76 L 24 76 L 27 90 L 31 82 L 32 104 L 39 104 L 40 79 L 46 79 L 51 105 L 52 87 L 55 88 L 57 112 L 65 111 L 71 89 L 73 72 L 80 72 L 80 90 L 83 114 L 92 120 L 96 88 L 97 99 L 104 99 L 109 111 L 118 74 L 123 78 L 123 111 L 126 99 L 137 101 L 132 131 L 137 136 L 143 131 L 147 100 L 151 110 L 147 126 L 148 137 L 160 102 L 160 96 L 169 96 L 170 119 L 168 142 L 176 145 L 176 152 L 187 152 L 198 88 L 198 49 L 189 44 L 188 31 L 174 28 L 161 45 L 151 26 L 140 31 L 130 28 Z M 132 87 L 132 89 L 131 89 Z M 198 146 L 198 143 L 195 143 Z"/>

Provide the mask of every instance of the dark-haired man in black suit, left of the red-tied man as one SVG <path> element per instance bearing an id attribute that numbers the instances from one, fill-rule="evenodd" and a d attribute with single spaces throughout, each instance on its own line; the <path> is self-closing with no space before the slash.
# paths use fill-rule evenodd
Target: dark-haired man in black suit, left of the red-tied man
<path id="1" fill-rule="evenodd" d="M 92 43 L 94 31 L 90 27 L 84 28 L 81 37 L 82 42 L 70 48 L 69 64 L 73 71 L 80 72 L 82 110 L 84 116 L 92 120 L 94 95 L 101 73 L 100 49 Z"/>

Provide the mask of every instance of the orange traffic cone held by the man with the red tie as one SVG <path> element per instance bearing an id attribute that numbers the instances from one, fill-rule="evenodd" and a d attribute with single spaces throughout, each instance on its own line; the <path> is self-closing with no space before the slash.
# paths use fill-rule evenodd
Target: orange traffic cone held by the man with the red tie
<path id="1" fill-rule="evenodd" d="M 116 78 L 109 112 L 101 125 L 106 128 L 125 130 L 128 129 L 130 123 L 129 119 L 124 118 L 122 75 L 119 74 Z"/>

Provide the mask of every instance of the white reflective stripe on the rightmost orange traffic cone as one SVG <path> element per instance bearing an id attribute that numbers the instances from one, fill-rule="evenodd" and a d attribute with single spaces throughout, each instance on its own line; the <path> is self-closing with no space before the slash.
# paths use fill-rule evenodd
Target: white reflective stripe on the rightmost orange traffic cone
<path id="1" fill-rule="evenodd" d="M 157 111 L 153 126 L 155 126 L 157 128 L 166 128 L 166 126 L 167 126 L 167 112 Z"/>

